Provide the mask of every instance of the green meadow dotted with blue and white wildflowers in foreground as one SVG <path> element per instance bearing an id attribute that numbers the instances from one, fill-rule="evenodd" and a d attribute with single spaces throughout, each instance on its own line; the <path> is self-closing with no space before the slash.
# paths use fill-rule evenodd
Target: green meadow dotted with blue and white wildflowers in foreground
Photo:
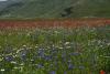
<path id="1" fill-rule="evenodd" d="M 110 25 L 0 30 L 0 74 L 110 73 Z"/>

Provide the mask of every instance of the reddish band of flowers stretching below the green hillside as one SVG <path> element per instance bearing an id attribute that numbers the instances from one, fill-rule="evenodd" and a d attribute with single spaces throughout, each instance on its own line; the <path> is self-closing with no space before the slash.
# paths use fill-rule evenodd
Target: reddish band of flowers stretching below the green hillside
<path id="1" fill-rule="evenodd" d="M 100 27 L 110 24 L 110 19 L 66 19 L 66 20 L 0 20 L 0 29 L 7 28 L 53 28 L 53 27 Z"/>

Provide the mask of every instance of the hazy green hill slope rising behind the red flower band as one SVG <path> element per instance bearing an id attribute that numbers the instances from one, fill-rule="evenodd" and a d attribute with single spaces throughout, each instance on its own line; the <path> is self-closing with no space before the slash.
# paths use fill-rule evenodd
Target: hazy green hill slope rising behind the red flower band
<path id="1" fill-rule="evenodd" d="M 110 0 L 13 0 L 0 7 L 0 19 L 110 18 L 109 7 Z"/>

